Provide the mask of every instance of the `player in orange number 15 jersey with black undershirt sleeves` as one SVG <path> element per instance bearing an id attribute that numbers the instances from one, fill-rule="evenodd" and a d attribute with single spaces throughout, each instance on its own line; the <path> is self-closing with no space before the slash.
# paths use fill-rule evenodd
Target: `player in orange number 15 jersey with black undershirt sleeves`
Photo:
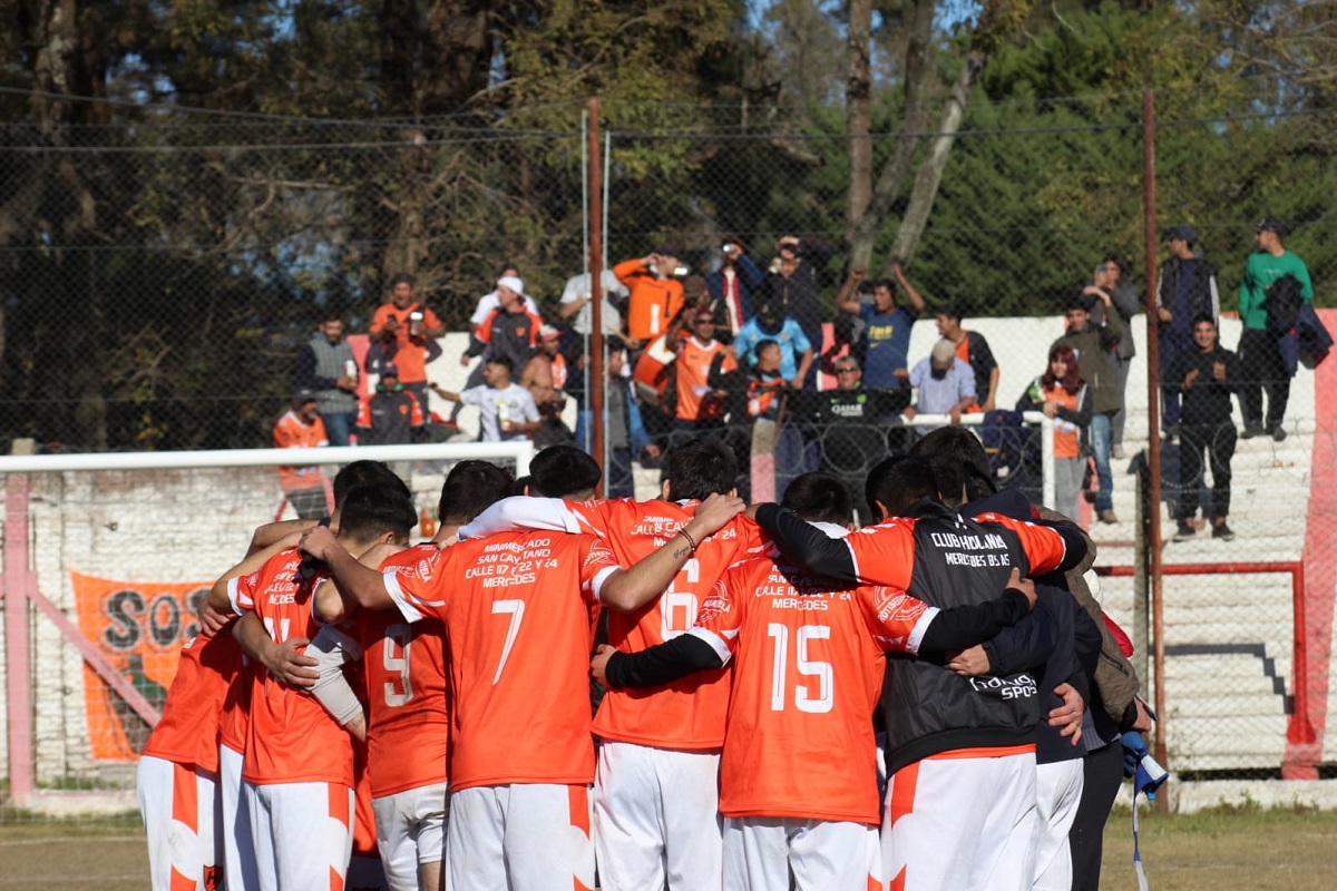
<path id="1" fill-rule="evenodd" d="M 834 477 L 798 477 L 785 498 L 820 534 L 845 534 L 850 500 Z M 773 550 L 730 566 L 686 635 L 638 653 L 600 648 L 592 668 L 618 689 L 733 663 L 723 887 L 787 891 L 793 875 L 800 891 L 865 891 L 881 886 L 872 719 L 886 652 L 991 637 L 1034 602 L 1015 570 L 1008 588 L 940 610 L 896 588 L 816 577 Z"/>

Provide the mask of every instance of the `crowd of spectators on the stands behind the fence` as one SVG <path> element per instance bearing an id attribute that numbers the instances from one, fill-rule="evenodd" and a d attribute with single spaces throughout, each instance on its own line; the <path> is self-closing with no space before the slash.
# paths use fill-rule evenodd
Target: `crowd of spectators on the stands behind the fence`
<path id="1" fill-rule="evenodd" d="M 1282 246 L 1285 234 L 1274 219 L 1257 227 L 1239 287 L 1245 330 L 1237 357 L 1218 342 L 1218 273 L 1197 250 L 1197 232 L 1189 226 L 1167 232 L 1169 256 L 1155 283 L 1163 433 L 1167 443 L 1181 442 L 1185 489 L 1197 494 L 1205 465 L 1215 486 L 1203 521 L 1193 516 L 1195 497 L 1177 502 L 1181 538 L 1207 520 L 1218 537 L 1233 534 L 1226 525 L 1235 441 L 1231 394 L 1241 402 L 1242 437 L 1286 435 L 1296 353 L 1288 338 L 1297 339 L 1294 317 L 1309 307 L 1313 286 L 1304 263 Z M 602 273 L 610 490 L 630 493 L 634 460 L 654 466 L 675 441 L 702 433 L 718 433 L 739 466 L 751 468 L 739 478 L 747 494 L 753 484 L 770 492 L 786 474 L 816 469 L 854 480 L 925 434 L 932 425 L 916 422 L 921 415 L 957 425 L 964 414 L 984 413 L 985 427 L 1008 426 L 1024 438 L 1017 413 L 1031 410 L 1054 419 L 1059 508 L 1076 516 L 1086 489 L 1095 518 L 1118 522 L 1111 461 L 1126 457 L 1131 319 L 1143 309 L 1120 256 L 1103 256 L 1087 281 L 1075 277 L 1071 297 L 1055 307 L 1064 314 L 1066 333 L 1044 359 L 1038 357 L 1042 374 L 1011 402 L 999 391 L 1000 369 L 988 341 L 963 327 L 965 306 L 953 299 L 931 310 L 898 264 L 876 281 L 864 269 L 850 270 L 834 297 L 833 318 L 824 318 L 832 254 L 828 244 L 786 234 L 759 263 L 742 239 L 726 236 L 703 275 L 685 263 L 686 251 L 668 243 Z M 1280 293 L 1288 289 L 1289 297 Z M 353 359 L 344 321 L 330 318 L 302 347 L 297 387 L 314 397 L 310 414 L 324 418 L 330 445 L 348 443 L 350 433 L 364 443 L 432 435 L 431 389 L 456 402 L 448 419 L 436 421 L 437 435 L 455 431 L 460 405 L 475 405 L 483 439 L 531 437 L 539 448 L 571 441 L 588 448 L 592 299 L 591 275 L 575 275 L 545 321 L 520 270 L 504 266 L 471 317 L 469 346 L 459 357 L 472 366 L 471 377 L 451 393 L 428 381 L 428 365 L 441 350 L 440 318 L 417 299 L 413 278 L 398 274 L 370 325 L 365 366 Z M 1278 319 L 1288 311 L 1289 318 Z M 940 338 L 929 355 L 912 362 L 910 331 L 928 313 Z M 1321 330 L 1312 311 L 1304 319 Z M 833 337 L 824 337 L 824 322 L 834 322 Z M 1298 339 L 1305 349 L 1302 326 Z M 380 383 L 360 403 L 364 371 L 377 374 Z M 829 375 L 825 386 L 820 374 Z M 562 419 L 568 399 L 576 403 L 574 430 Z M 294 405 L 281 426 L 299 427 L 306 414 L 306 403 Z M 985 443 L 1013 469 L 1015 454 L 1008 457 L 1007 445 L 999 445 L 1005 437 L 999 437 Z M 759 482 L 758 468 L 773 480 Z M 285 484 L 291 485 L 287 477 Z"/>

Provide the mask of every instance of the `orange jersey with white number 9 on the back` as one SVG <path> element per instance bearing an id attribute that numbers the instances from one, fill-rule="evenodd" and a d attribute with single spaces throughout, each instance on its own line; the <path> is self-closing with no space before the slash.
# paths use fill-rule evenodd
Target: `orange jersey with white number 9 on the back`
<path id="1" fill-rule="evenodd" d="M 392 554 L 381 569 L 429 560 L 424 544 Z M 445 681 L 445 628 L 435 620 L 406 622 L 393 609 L 357 614 L 357 643 L 366 676 L 366 761 L 372 795 L 447 781 L 451 732 Z"/>

